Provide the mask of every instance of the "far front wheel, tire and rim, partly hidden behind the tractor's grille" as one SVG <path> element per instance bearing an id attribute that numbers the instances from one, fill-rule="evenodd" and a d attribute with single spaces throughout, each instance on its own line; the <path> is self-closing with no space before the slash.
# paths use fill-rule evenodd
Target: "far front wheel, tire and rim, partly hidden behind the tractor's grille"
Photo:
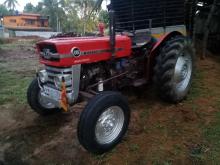
<path id="1" fill-rule="evenodd" d="M 30 107 L 40 115 L 50 115 L 60 111 L 59 108 L 42 98 L 37 78 L 31 82 L 28 88 L 27 101 Z"/>

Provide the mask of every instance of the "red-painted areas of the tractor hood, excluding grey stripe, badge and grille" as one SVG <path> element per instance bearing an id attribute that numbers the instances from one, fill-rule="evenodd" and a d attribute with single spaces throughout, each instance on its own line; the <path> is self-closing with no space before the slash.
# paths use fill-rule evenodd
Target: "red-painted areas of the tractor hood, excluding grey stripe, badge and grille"
<path id="1" fill-rule="evenodd" d="M 71 49 L 77 47 L 81 52 L 96 51 L 96 50 L 110 50 L 109 37 L 76 37 L 76 38 L 56 38 L 39 42 L 40 45 L 55 45 L 57 52 L 62 56 L 71 54 Z M 131 39 L 127 36 L 116 36 L 116 49 L 122 48 L 117 51 L 115 57 L 122 58 L 131 56 Z M 38 49 L 39 50 L 39 49 Z M 111 58 L 110 52 L 100 54 L 81 55 L 80 57 L 71 57 L 60 59 L 59 62 L 48 61 L 40 59 L 42 64 L 65 67 L 84 63 L 94 63 L 99 61 L 109 60 Z"/>

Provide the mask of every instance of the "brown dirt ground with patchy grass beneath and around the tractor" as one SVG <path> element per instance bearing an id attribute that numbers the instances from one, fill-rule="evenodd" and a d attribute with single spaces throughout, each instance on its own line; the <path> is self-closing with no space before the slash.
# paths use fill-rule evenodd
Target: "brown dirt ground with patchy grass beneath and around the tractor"
<path id="1" fill-rule="evenodd" d="M 0 165 L 190 165 L 218 161 L 210 159 L 214 148 L 205 132 L 220 110 L 220 56 L 197 60 L 192 90 L 180 104 L 161 101 L 153 85 L 144 88 L 140 96 L 128 92 L 132 109 L 128 133 L 113 151 L 97 156 L 86 152 L 76 135 L 85 103 L 75 105 L 69 113 L 49 117 L 38 116 L 27 105 L 26 89 L 38 66 L 33 43 L 20 41 L 0 48 Z M 220 134 L 216 136 L 220 138 Z M 214 154 L 220 156 L 218 151 Z"/>

